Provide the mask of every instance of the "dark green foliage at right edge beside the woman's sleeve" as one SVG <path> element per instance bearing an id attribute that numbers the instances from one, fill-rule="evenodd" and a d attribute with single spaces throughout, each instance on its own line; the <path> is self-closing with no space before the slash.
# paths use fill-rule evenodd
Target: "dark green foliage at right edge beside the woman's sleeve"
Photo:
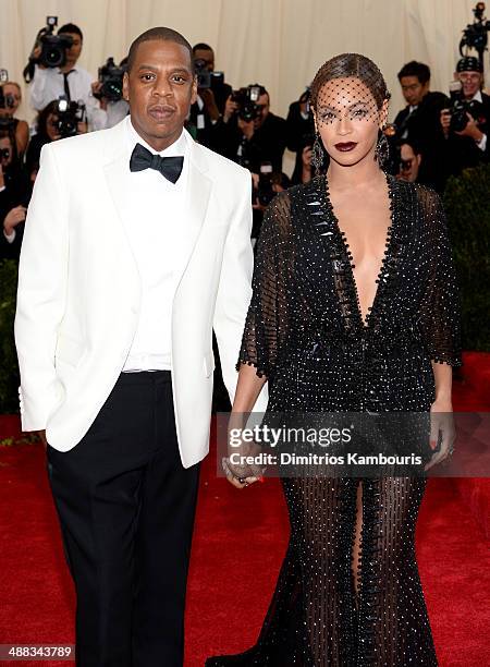
<path id="1" fill-rule="evenodd" d="M 460 280 L 463 349 L 490 351 L 490 165 L 451 178 L 444 205 Z"/>

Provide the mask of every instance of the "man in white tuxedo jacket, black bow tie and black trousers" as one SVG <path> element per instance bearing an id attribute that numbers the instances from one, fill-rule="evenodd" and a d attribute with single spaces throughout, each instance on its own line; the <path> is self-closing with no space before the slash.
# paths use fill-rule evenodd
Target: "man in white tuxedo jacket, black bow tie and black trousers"
<path id="1" fill-rule="evenodd" d="M 46 433 L 83 667 L 183 664 L 212 328 L 232 396 L 252 292 L 249 173 L 183 130 L 191 46 L 152 28 L 128 68 L 131 116 L 42 149 L 15 318 L 22 423 Z"/>

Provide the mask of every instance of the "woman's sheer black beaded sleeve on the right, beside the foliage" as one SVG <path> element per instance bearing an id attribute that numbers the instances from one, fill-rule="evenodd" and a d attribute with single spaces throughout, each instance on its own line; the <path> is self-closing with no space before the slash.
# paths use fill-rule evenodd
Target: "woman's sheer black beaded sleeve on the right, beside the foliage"
<path id="1" fill-rule="evenodd" d="M 428 239 L 429 278 L 420 307 L 420 324 L 430 359 L 461 366 L 461 307 L 444 209 L 432 190 L 419 189 Z"/>

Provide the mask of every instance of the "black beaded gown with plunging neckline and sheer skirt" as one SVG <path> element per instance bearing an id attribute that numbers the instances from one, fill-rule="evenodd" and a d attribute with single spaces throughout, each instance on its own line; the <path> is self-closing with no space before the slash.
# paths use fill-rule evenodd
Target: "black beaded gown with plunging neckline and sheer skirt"
<path id="1" fill-rule="evenodd" d="M 326 178 L 270 205 L 238 361 L 267 376 L 268 411 L 425 412 L 434 400 L 431 361 L 461 364 L 440 198 L 387 179 L 391 225 L 366 322 Z M 425 485 L 420 477 L 283 477 L 291 536 L 258 641 L 207 667 L 436 666 L 414 539 Z"/>

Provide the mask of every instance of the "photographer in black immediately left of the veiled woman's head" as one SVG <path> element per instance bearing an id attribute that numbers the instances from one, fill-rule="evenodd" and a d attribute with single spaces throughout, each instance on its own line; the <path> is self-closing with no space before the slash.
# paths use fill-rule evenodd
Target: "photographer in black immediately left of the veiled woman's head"
<path id="1" fill-rule="evenodd" d="M 308 159 L 308 147 L 311 149 L 315 138 L 315 123 L 309 108 L 309 87 L 302 94 L 297 101 L 290 105 L 286 118 L 286 145 L 296 154 L 296 162 L 292 175 L 293 183 L 304 181 L 305 155 Z M 308 179 L 309 180 L 309 179 Z"/>

